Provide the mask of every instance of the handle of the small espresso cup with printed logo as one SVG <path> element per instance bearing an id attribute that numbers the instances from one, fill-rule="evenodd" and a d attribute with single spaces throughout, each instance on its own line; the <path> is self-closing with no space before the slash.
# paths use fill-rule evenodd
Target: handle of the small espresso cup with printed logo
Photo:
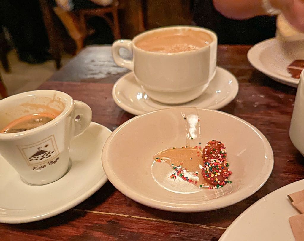
<path id="1" fill-rule="evenodd" d="M 79 119 L 76 117 L 79 116 Z M 74 100 L 74 111 L 72 114 L 72 138 L 81 135 L 90 125 L 92 120 L 91 108 L 82 101 Z"/>

